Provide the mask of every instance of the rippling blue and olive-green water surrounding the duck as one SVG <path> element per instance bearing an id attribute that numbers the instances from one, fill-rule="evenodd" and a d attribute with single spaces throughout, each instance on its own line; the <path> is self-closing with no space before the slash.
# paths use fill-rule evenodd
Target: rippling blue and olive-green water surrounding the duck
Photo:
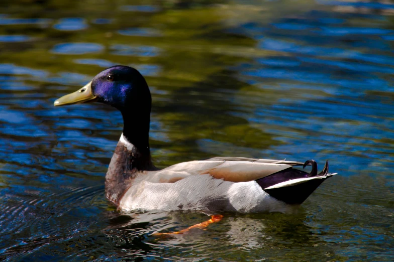
<path id="1" fill-rule="evenodd" d="M 22 1 L 0 9 L 0 259 L 394 260 L 394 4 Z M 119 112 L 54 108 L 114 64 L 146 76 L 154 162 L 305 161 L 297 215 L 121 215 L 104 176 Z"/>

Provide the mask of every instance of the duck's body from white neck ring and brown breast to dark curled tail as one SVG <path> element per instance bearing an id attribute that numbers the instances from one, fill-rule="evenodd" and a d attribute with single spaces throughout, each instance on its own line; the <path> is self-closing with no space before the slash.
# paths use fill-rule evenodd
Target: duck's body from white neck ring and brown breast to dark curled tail
<path id="1" fill-rule="evenodd" d="M 292 169 L 303 165 L 299 162 L 230 157 L 183 162 L 162 170 L 153 166 L 138 170 L 130 165 L 137 155 L 135 147 L 122 134 L 106 175 L 107 198 L 125 212 L 293 213 L 332 175 L 327 174 L 328 167 L 325 173 L 311 177 L 309 173 Z M 286 177 L 288 173 L 293 179 Z M 120 174 L 123 179 L 119 178 Z M 287 187 L 284 192 L 279 193 L 275 188 L 280 183 L 277 180 L 287 182 L 283 185 Z M 309 185 L 305 187 L 306 184 Z M 273 188 L 269 189 L 271 185 Z M 278 188 L 283 189 L 280 185 Z M 297 188 L 303 192 L 297 192 Z"/>

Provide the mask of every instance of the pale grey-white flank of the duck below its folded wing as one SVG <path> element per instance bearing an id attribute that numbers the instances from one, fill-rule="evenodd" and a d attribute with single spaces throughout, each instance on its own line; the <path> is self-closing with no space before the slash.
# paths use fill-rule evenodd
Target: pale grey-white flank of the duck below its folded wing
<path id="1" fill-rule="evenodd" d="M 200 210 L 217 212 L 293 213 L 298 206 L 288 205 L 264 192 L 256 181 L 229 182 L 210 175 L 191 175 L 175 183 L 152 183 L 137 177 L 123 195 L 119 209 Z"/>

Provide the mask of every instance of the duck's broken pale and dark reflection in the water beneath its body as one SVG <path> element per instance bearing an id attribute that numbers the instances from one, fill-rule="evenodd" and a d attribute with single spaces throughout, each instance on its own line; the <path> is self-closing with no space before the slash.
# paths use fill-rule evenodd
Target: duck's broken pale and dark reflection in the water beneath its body
<path id="1" fill-rule="evenodd" d="M 223 257 L 231 256 L 231 251 L 264 250 L 272 248 L 302 248 L 322 241 L 313 233 L 313 228 L 305 224 L 305 215 L 291 217 L 282 214 L 226 215 L 222 223 L 201 229 L 191 229 L 184 234 L 157 235 L 161 231 L 181 231 L 187 225 L 201 220 L 204 214 L 193 212 L 145 212 L 116 215 L 110 219 L 105 230 L 110 241 L 117 241 L 123 258 L 150 256 L 162 253 L 178 254 L 179 248 L 190 256 L 211 259 L 211 252 L 221 250 Z M 275 245 L 275 246 L 272 246 Z M 282 245 L 282 246 L 279 246 Z M 227 253 L 227 254 L 226 254 Z M 234 258 L 233 258 L 234 259 Z"/>

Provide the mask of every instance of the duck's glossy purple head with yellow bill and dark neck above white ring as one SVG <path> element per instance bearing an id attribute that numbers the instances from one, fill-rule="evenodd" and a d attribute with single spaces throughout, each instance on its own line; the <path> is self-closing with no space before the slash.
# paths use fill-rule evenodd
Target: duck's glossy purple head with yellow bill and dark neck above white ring
<path id="1" fill-rule="evenodd" d="M 97 74 L 79 90 L 62 96 L 55 106 L 101 102 L 121 111 L 123 136 L 142 151 L 149 151 L 149 122 L 152 98 L 148 84 L 136 69 L 113 66 Z"/>

